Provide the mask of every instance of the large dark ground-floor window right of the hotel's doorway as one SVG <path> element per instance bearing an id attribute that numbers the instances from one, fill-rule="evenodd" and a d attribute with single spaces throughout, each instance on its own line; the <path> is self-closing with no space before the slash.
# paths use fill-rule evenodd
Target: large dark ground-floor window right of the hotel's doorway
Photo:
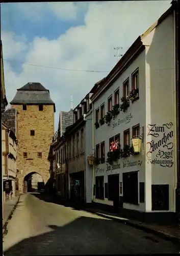
<path id="1" fill-rule="evenodd" d="M 122 174 L 124 203 L 138 204 L 138 172 Z"/>

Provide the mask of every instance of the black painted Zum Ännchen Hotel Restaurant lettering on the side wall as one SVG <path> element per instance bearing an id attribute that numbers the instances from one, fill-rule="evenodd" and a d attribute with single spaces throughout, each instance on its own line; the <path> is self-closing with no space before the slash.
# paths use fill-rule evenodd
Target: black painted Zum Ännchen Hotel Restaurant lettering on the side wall
<path id="1" fill-rule="evenodd" d="M 157 124 L 148 124 L 147 136 L 151 135 L 154 138 L 158 138 L 146 143 L 148 145 L 148 151 L 146 153 L 147 163 L 160 164 L 162 167 L 173 166 L 173 130 L 169 131 L 173 126 L 172 122 L 163 123 L 162 126 Z M 151 159 L 152 153 L 156 153 L 156 158 Z"/>

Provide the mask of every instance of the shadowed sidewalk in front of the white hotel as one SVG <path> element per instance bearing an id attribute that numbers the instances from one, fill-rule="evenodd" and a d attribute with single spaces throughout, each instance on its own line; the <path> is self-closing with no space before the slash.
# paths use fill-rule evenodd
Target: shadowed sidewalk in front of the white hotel
<path id="1" fill-rule="evenodd" d="M 130 220 L 121 218 L 119 215 L 111 214 L 106 211 L 102 211 L 94 208 L 84 208 L 85 211 L 89 211 L 93 214 L 99 215 L 101 217 L 105 217 L 114 221 L 118 221 L 124 223 L 126 225 L 130 225 L 141 230 L 144 230 L 149 233 L 157 234 L 158 236 L 170 240 L 172 242 L 180 242 L 180 225 L 172 224 L 172 225 L 159 225 L 159 224 L 147 224 L 140 221 Z"/>

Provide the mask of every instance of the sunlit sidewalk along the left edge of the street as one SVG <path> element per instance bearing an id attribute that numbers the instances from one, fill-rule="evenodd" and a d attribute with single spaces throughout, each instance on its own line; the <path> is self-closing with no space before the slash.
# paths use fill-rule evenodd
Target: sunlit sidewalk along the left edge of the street
<path id="1" fill-rule="evenodd" d="M 14 207 L 17 205 L 17 203 L 19 201 L 19 197 L 20 196 L 16 196 L 16 197 L 13 197 L 11 200 L 8 199 L 7 201 L 3 202 L 3 228 L 4 228 L 7 220 L 11 216 L 11 213 L 12 213 Z"/>

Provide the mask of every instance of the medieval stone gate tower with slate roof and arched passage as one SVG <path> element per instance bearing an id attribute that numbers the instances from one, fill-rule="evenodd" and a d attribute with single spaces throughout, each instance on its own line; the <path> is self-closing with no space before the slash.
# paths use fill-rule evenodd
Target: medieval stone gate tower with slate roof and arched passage
<path id="1" fill-rule="evenodd" d="M 48 154 L 54 135 L 55 103 L 41 83 L 29 82 L 10 102 L 18 111 L 17 178 L 19 191 L 27 192 L 29 178 L 38 173 L 44 183 L 50 178 Z"/>

